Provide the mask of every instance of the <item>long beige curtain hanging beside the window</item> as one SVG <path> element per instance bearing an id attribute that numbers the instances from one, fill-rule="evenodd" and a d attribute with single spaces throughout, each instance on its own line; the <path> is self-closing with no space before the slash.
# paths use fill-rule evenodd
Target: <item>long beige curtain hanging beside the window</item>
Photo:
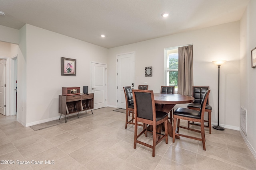
<path id="1" fill-rule="evenodd" d="M 193 45 L 178 47 L 178 94 L 192 96 Z"/>

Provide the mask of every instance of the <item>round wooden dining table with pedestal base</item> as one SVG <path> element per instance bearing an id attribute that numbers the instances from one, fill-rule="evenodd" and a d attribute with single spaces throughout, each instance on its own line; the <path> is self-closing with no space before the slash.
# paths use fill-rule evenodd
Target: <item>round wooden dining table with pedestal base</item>
<path id="1" fill-rule="evenodd" d="M 194 102 L 192 96 L 186 96 L 181 94 L 162 94 L 154 93 L 156 110 L 164 111 L 169 113 L 176 104 L 186 104 Z M 171 120 L 172 121 L 172 120 Z M 162 127 L 159 128 L 160 130 Z M 168 135 L 172 137 L 173 127 L 172 124 L 168 121 Z M 176 136 L 175 138 L 180 139 Z"/>

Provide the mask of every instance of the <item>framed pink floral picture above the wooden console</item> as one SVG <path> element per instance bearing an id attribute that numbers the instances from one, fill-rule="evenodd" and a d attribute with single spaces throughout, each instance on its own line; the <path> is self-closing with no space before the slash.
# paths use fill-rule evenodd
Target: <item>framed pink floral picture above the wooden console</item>
<path id="1" fill-rule="evenodd" d="M 61 75 L 76 76 L 76 59 L 61 57 Z"/>

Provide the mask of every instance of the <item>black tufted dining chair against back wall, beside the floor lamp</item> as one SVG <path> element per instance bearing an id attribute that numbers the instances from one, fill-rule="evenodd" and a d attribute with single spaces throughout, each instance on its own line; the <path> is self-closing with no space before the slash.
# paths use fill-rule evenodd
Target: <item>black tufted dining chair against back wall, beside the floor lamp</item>
<path id="1" fill-rule="evenodd" d="M 200 111 L 200 104 L 202 101 L 202 98 L 204 96 L 204 93 L 206 90 L 209 89 L 209 86 L 193 86 L 192 96 L 195 98 L 194 102 L 191 104 L 188 104 L 189 109 L 194 109 Z M 212 106 L 209 104 L 209 96 L 206 99 L 206 106 L 205 111 L 208 112 L 208 120 L 204 120 L 204 122 L 207 122 L 208 125 L 204 125 L 204 127 L 209 128 L 209 133 L 212 134 Z M 194 122 L 188 121 L 188 128 L 190 125 L 196 125 L 200 126 L 199 124 L 196 124 Z"/>

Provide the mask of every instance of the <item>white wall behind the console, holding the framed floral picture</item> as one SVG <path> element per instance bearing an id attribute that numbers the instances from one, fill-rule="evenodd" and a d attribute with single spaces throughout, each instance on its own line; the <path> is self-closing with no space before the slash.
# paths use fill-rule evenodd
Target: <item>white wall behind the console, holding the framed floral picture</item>
<path id="1" fill-rule="evenodd" d="M 107 49 L 26 25 L 26 126 L 56 119 L 62 87 L 89 86 L 90 62 L 107 63 Z M 61 57 L 76 59 L 76 76 L 61 76 Z M 18 63 L 20 60 L 18 60 Z"/>

